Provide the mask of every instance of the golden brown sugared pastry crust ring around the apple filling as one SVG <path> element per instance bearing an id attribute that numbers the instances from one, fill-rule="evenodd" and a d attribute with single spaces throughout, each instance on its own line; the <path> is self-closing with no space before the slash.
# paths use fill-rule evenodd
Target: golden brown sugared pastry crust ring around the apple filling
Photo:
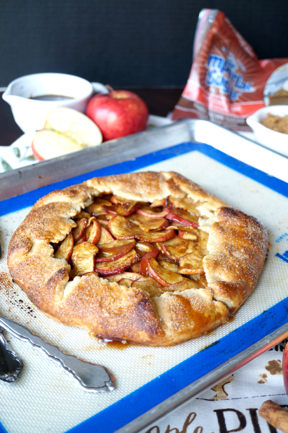
<path id="1" fill-rule="evenodd" d="M 95 272 L 68 281 L 70 265 L 53 257 L 50 242 L 65 239 L 76 226 L 71 218 L 102 193 L 151 203 L 169 196 L 191 199 L 202 229 L 210 228 L 203 259 L 207 283 L 194 288 L 185 279 L 151 299 Z M 174 172 L 140 172 L 93 178 L 42 197 L 10 240 L 8 266 L 36 307 L 61 323 L 107 338 L 169 346 L 210 332 L 239 308 L 256 285 L 267 246 L 266 230 L 255 218 L 199 185 Z"/>

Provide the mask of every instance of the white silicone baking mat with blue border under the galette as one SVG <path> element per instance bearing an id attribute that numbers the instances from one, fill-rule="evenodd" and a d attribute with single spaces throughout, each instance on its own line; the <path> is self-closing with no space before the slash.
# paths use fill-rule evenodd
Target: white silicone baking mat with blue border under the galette
<path id="1" fill-rule="evenodd" d="M 35 201 L 96 175 L 173 170 L 201 184 L 268 228 L 272 244 L 257 287 L 235 320 L 179 346 L 110 348 L 85 330 L 45 317 L 13 284 L 6 266 L 9 239 Z M 1 313 L 68 353 L 105 365 L 116 390 L 87 393 L 58 365 L 6 334 L 23 359 L 18 381 L 0 381 L 0 421 L 8 433 L 110 433 L 164 401 L 288 321 L 288 184 L 201 143 L 183 143 L 0 202 Z M 237 342 L 237 343 L 235 343 Z M 71 429 L 71 430 L 69 430 Z M 0 430 L 1 431 L 1 430 Z"/>

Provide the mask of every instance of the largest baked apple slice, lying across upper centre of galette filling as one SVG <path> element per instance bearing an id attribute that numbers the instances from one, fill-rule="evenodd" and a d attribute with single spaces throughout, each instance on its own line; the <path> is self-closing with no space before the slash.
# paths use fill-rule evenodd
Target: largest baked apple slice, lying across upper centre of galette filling
<path id="1" fill-rule="evenodd" d="M 139 239 L 148 242 L 164 242 L 175 236 L 174 230 L 166 230 L 163 232 L 146 233 L 139 229 L 136 224 L 124 218 L 124 216 L 117 215 L 109 221 L 110 232 L 117 239 Z"/>

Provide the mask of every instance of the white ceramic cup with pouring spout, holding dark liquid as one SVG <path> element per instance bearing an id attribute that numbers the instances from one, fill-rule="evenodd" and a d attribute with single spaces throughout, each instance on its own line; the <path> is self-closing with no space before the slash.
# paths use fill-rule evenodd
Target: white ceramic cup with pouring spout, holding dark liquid
<path id="1" fill-rule="evenodd" d="M 93 93 L 92 84 L 68 74 L 31 74 L 12 81 L 3 99 L 11 106 L 16 123 L 24 132 L 42 129 L 49 110 L 64 106 L 85 112 Z M 43 101 L 31 99 L 42 95 L 62 95 L 73 99 Z"/>

